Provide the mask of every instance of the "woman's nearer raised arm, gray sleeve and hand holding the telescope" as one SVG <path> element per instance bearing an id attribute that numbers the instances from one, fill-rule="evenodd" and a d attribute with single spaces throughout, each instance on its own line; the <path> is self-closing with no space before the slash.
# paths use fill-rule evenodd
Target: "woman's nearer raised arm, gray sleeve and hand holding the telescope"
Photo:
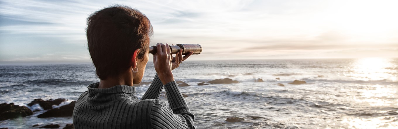
<path id="1" fill-rule="evenodd" d="M 167 100 L 170 108 L 166 107 L 164 102 L 155 100 L 151 108 L 152 128 L 174 129 L 174 128 L 195 128 L 193 126 L 194 116 L 189 111 L 187 103 L 174 81 L 172 73 L 172 62 L 179 65 L 183 58 L 181 51 L 176 54 L 175 61 L 172 61 L 170 48 L 167 44 L 156 44 L 157 52 L 154 55 L 153 62 L 156 73 L 166 89 Z"/>

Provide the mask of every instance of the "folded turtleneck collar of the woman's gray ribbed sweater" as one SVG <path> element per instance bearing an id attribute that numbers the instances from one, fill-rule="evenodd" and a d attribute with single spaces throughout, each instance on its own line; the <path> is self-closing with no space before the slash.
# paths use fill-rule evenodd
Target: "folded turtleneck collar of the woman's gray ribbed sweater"
<path id="1" fill-rule="evenodd" d="M 139 101 L 135 96 L 135 87 L 129 85 L 115 85 L 110 88 L 99 89 L 100 82 L 88 85 L 88 102 L 91 104 L 110 104 L 122 99 Z"/>

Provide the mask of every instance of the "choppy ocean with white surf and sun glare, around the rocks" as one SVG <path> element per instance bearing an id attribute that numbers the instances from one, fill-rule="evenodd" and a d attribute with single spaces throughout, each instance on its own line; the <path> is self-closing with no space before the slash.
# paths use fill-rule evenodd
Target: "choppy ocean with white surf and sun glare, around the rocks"
<path id="1" fill-rule="evenodd" d="M 142 82 L 156 71 L 148 62 Z M 398 128 L 398 59 L 275 59 L 184 61 L 173 70 L 198 129 Z M 198 85 L 230 78 L 239 83 Z M 263 80 L 263 82 L 259 81 Z M 304 84 L 291 84 L 294 80 Z M 98 82 L 92 64 L 1 65 L 0 103 L 27 106 L 34 99 L 68 104 Z M 148 84 L 137 87 L 137 97 Z M 164 94 L 164 93 L 163 93 Z M 161 101 L 167 101 L 164 96 Z M 27 106 L 29 107 L 29 106 Z M 72 117 L 0 121 L 0 128 L 72 123 Z M 237 117 L 240 121 L 228 122 Z"/>

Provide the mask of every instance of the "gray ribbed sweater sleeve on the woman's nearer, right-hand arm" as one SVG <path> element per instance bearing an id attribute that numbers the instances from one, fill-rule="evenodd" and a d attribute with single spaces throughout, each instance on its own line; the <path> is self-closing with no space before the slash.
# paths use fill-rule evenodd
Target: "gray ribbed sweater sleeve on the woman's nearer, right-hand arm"
<path id="1" fill-rule="evenodd" d="M 170 108 L 165 102 L 154 100 L 151 108 L 151 123 L 155 129 L 195 129 L 193 120 L 195 116 L 189 111 L 187 103 L 175 81 L 164 85 Z"/>

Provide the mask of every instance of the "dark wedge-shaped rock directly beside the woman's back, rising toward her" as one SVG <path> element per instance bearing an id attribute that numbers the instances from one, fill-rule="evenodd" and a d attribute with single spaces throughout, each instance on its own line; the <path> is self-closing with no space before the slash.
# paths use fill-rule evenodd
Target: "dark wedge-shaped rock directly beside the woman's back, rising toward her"
<path id="1" fill-rule="evenodd" d="M 37 116 L 37 118 L 49 118 L 49 117 L 68 117 L 72 116 L 73 108 L 76 104 L 76 101 L 70 102 L 68 105 L 60 106 L 59 108 L 54 108 L 44 112 Z"/>

